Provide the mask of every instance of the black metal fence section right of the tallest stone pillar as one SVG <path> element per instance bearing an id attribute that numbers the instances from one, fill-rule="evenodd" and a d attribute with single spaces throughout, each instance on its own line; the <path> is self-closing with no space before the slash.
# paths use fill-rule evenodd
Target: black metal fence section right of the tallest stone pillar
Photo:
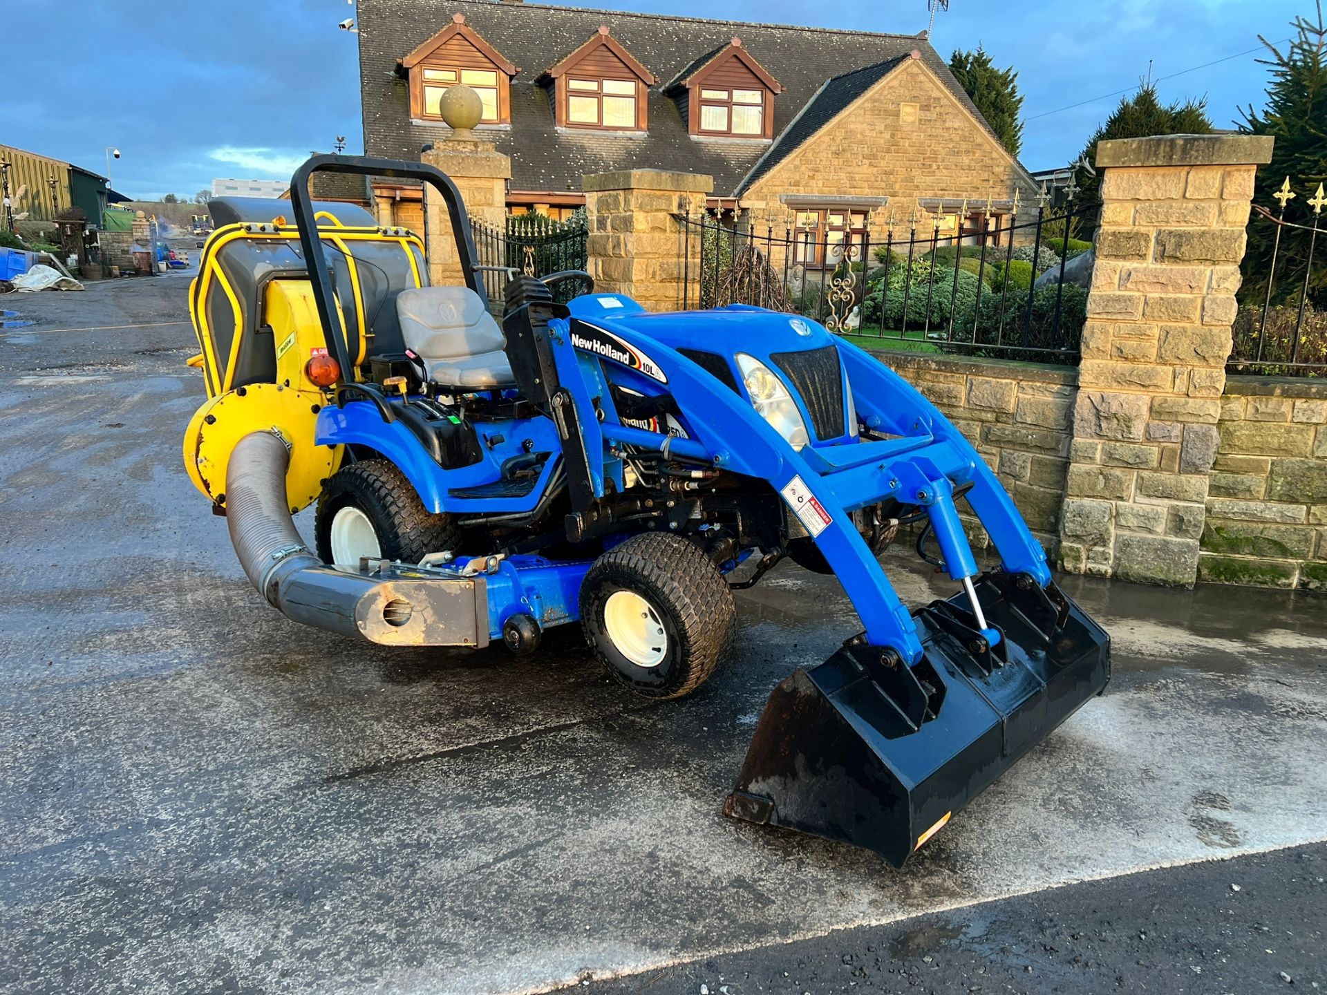
<path id="1" fill-rule="evenodd" d="M 1234 322 L 1230 373 L 1327 375 L 1327 263 L 1319 253 L 1323 186 L 1300 208 L 1300 220 L 1286 219 L 1286 206 L 1296 194 L 1290 179 L 1273 194 L 1281 207 L 1254 204 L 1249 222 L 1249 248 L 1243 287 Z"/>

